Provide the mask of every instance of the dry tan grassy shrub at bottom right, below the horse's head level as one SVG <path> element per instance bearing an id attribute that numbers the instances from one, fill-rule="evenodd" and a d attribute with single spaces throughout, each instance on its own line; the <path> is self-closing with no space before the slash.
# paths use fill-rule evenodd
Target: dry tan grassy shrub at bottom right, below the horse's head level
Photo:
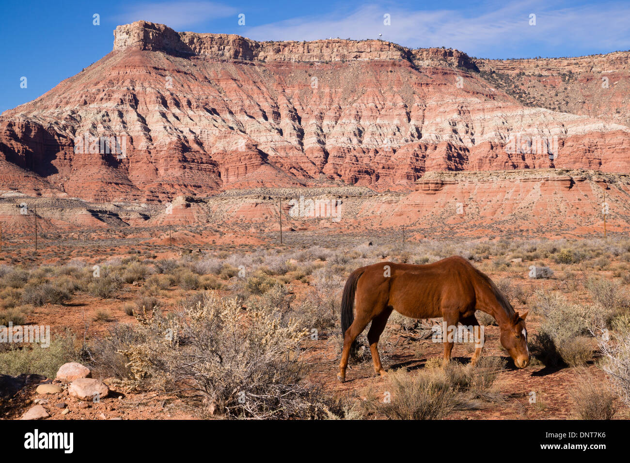
<path id="1" fill-rule="evenodd" d="M 612 391 L 586 371 L 578 375 L 578 384 L 571 390 L 571 398 L 573 412 L 580 420 L 612 420 L 616 411 Z"/>

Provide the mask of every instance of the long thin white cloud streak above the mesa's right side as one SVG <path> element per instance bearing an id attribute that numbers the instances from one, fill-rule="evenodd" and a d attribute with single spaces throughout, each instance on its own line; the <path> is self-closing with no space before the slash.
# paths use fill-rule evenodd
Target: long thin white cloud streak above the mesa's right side
<path id="1" fill-rule="evenodd" d="M 384 25 L 384 14 L 391 25 Z M 530 14 L 536 25 L 530 26 Z M 479 57 L 557 56 L 566 50 L 630 49 L 630 3 L 604 2 L 554 9 L 546 1 L 512 0 L 490 11 L 405 10 L 370 4 L 350 14 L 300 17 L 249 28 L 255 40 L 379 38 L 411 48 L 452 47 Z"/>

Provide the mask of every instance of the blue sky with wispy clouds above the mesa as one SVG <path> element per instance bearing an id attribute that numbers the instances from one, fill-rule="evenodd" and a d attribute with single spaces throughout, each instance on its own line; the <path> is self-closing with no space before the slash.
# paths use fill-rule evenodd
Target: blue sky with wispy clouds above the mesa
<path id="1" fill-rule="evenodd" d="M 629 1 L 24 1 L 0 16 L 0 111 L 33 100 L 112 50 L 137 20 L 255 40 L 377 38 L 453 47 L 486 58 L 558 57 L 630 49 Z M 93 25 L 93 14 L 100 25 Z M 239 14 L 245 25 L 238 24 Z M 390 25 L 384 25 L 389 14 Z M 530 25 L 530 15 L 536 25 Z M 26 77 L 26 88 L 21 88 Z"/>

